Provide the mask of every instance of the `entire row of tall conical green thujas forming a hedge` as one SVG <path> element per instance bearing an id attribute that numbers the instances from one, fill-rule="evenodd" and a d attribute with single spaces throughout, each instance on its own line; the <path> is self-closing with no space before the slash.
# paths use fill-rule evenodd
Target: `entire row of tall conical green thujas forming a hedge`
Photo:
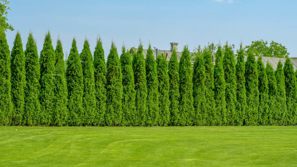
<path id="1" fill-rule="evenodd" d="M 274 71 L 252 49 L 217 46 L 197 52 L 192 65 L 187 46 L 180 61 L 173 49 L 167 62 L 163 54 L 155 60 L 151 45 L 143 55 L 141 42 L 133 57 L 124 45 L 119 56 L 112 42 L 105 62 L 100 37 L 93 55 L 87 39 L 79 54 L 74 38 L 65 64 L 62 42 L 54 49 L 49 32 L 38 54 L 32 32 L 25 50 L 17 32 L 10 52 L 0 31 L 0 125 L 295 125 L 290 59 Z"/>

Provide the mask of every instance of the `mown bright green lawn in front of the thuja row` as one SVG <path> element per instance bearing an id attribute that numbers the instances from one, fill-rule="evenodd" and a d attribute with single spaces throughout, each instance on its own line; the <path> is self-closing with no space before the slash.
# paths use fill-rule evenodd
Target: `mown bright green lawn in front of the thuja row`
<path id="1" fill-rule="evenodd" d="M 297 166 L 297 126 L 0 127 L 0 166 Z"/>

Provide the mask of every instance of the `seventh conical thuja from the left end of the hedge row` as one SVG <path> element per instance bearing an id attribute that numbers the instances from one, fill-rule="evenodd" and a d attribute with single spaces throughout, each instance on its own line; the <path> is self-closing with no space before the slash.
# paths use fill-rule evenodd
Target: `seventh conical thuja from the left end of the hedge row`
<path id="1" fill-rule="evenodd" d="M 84 77 L 83 107 L 84 115 L 82 121 L 84 125 L 92 125 L 95 118 L 96 96 L 94 80 L 94 63 L 88 40 L 84 40 L 84 48 L 80 54 L 81 68 Z"/>

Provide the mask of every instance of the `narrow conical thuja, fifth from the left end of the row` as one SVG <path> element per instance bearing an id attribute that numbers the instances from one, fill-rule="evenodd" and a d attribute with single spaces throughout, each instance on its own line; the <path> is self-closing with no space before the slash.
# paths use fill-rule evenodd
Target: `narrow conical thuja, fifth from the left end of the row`
<path id="1" fill-rule="evenodd" d="M 65 63 L 64 54 L 62 48 L 62 42 L 60 39 L 57 40 L 57 46 L 55 50 L 55 109 L 53 112 L 53 122 L 55 126 L 67 125 L 68 117 L 68 90 L 67 82 L 65 79 Z"/>

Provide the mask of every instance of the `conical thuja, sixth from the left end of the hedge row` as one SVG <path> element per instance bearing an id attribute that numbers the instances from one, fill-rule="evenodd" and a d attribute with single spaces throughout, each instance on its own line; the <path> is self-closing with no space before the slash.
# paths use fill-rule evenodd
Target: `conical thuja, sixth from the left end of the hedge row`
<path id="1" fill-rule="evenodd" d="M 84 123 L 82 120 L 84 114 L 84 79 L 75 38 L 73 38 L 67 59 L 66 78 L 68 88 L 68 125 L 81 126 Z"/>

